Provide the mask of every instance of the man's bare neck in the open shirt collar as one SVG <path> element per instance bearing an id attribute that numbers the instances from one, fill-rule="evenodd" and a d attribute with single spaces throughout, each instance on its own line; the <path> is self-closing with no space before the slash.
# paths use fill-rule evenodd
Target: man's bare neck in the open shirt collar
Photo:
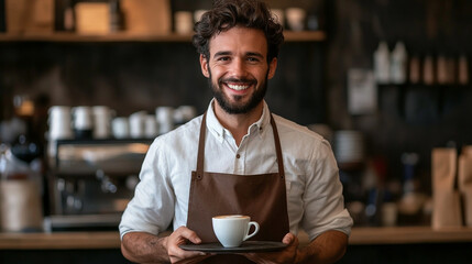
<path id="1" fill-rule="evenodd" d="M 215 116 L 224 129 L 229 130 L 233 135 L 237 145 L 239 146 L 242 138 L 248 133 L 249 127 L 261 119 L 264 108 L 263 101 L 259 103 L 253 110 L 246 113 L 228 113 L 215 100 L 213 110 Z"/>

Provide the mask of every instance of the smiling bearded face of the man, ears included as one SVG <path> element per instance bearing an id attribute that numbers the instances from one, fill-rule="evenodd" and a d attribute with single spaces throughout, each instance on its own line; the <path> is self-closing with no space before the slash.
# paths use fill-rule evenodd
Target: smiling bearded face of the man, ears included
<path id="1" fill-rule="evenodd" d="M 261 105 L 276 68 L 275 58 L 267 64 L 264 33 L 237 26 L 211 38 L 209 51 L 200 65 L 218 106 L 228 113 L 248 113 Z"/>

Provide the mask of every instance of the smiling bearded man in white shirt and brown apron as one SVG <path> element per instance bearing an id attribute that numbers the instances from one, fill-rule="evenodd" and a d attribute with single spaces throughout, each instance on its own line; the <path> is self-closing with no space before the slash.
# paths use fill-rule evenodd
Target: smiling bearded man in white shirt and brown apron
<path id="1" fill-rule="evenodd" d="M 263 2 L 218 1 L 194 45 L 213 91 L 208 110 L 151 145 L 120 223 L 122 253 L 139 263 L 332 263 L 345 252 L 344 209 L 332 151 L 263 100 L 277 66 L 282 26 Z M 229 209 L 230 208 L 230 209 Z M 249 215 L 275 252 L 215 255 L 184 243 L 215 241 L 211 217 Z M 157 237 L 173 223 L 173 232 Z M 296 234 L 310 239 L 299 248 Z"/>

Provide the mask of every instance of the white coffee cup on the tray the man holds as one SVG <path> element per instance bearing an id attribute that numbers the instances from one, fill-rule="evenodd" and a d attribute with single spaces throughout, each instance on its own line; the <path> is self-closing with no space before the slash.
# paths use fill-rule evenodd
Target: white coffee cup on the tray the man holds
<path id="1" fill-rule="evenodd" d="M 251 221 L 248 216 L 230 215 L 212 218 L 213 232 L 224 248 L 237 248 L 259 232 L 259 223 Z M 251 226 L 254 231 L 249 233 Z"/>

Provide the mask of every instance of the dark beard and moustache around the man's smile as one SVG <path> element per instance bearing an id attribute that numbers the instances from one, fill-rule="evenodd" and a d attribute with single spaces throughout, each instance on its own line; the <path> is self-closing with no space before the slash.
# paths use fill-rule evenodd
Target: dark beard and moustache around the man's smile
<path id="1" fill-rule="evenodd" d="M 215 99 L 218 101 L 218 105 L 223 109 L 227 113 L 230 114 L 240 114 L 240 113 L 248 113 L 251 110 L 253 110 L 255 107 L 259 106 L 259 103 L 264 99 L 265 92 L 267 91 L 267 74 L 265 75 L 265 79 L 262 84 L 260 84 L 259 88 L 254 90 L 254 92 L 251 95 L 251 98 L 248 102 L 241 102 L 243 97 L 241 96 L 232 96 L 232 99 L 235 102 L 231 102 L 230 98 L 223 92 L 223 89 L 221 88 L 223 81 L 231 81 L 231 82 L 253 82 L 253 85 L 257 85 L 255 80 L 248 80 L 248 79 L 219 79 L 217 84 L 212 81 L 211 72 L 209 70 L 210 77 L 208 78 L 209 86 L 211 88 L 211 91 L 213 92 Z"/>

